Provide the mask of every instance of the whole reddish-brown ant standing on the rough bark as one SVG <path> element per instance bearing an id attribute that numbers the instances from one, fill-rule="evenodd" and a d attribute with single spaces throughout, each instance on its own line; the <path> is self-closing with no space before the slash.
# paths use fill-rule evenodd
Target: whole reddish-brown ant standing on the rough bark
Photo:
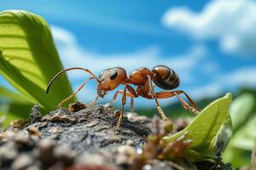
<path id="1" fill-rule="evenodd" d="M 84 85 L 92 79 L 95 79 L 96 82 L 98 83 L 97 84 L 98 95 L 96 96 L 96 99 L 90 102 L 89 106 L 94 105 L 96 103 L 96 100 L 99 97 L 103 98 L 104 95 L 108 93 L 108 91 L 112 91 L 113 89 L 119 87 L 120 84 L 123 84 L 125 86 L 124 90 L 118 90 L 113 95 L 113 101 L 114 101 L 117 98 L 118 94 L 123 94 L 122 107 L 119 115 L 119 120 L 116 125 L 116 130 L 118 131 L 120 129 L 120 125 L 124 117 L 124 108 L 125 108 L 127 96 L 131 98 L 131 111 L 133 111 L 134 98 L 142 96 L 143 98 L 146 98 L 146 99 L 154 99 L 157 110 L 159 111 L 160 116 L 164 121 L 167 121 L 168 119 L 164 111 L 162 111 L 158 99 L 166 99 L 166 98 L 171 98 L 173 96 L 176 96 L 179 102 L 181 103 L 181 105 L 183 105 L 183 108 L 185 110 L 189 110 L 195 115 L 198 114 L 199 112 L 199 109 L 195 105 L 195 102 L 189 97 L 188 94 L 183 92 L 183 90 L 162 91 L 162 92 L 156 92 L 156 93 L 154 92 L 153 82 L 159 88 L 166 89 L 166 90 L 172 90 L 174 88 L 177 88 L 179 85 L 179 78 L 176 72 L 165 65 L 157 65 L 152 69 L 152 71 L 150 71 L 148 68 L 142 67 L 136 71 L 132 71 L 129 77 L 127 77 L 125 69 L 121 67 L 109 68 L 103 71 L 99 77 L 96 77 L 88 69 L 84 69 L 80 67 L 67 68 L 65 70 L 58 72 L 55 75 L 55 77 L 53 77 L 50 80 L 46 88 L 46 94 L 49 93 L 49 88 L 51 84 L 55 81 L 55 79 L 59 77 L 61 73 L 70 71 L 70 70 L 82 70 L 89 73 L 91 77 L 89 77 L 86 81 L 84 81 L 77 91 L 75 91 L 73 94 L 68 96 L 66 99 L 62 100 L 61 103 L 57 106 L 58 108 L 60 108 L 61 105 L 66 103 L 67 100 L 71 99 L 74 95 L 78 94 L 79 91 L 84 87 Z M 137 89 L 135 90 L 129 84 L 137 86 Z M 178 94 L 184 94 L 185 97 L 189 100 L 190 105 L 184 99 L 182 99 Z"/>

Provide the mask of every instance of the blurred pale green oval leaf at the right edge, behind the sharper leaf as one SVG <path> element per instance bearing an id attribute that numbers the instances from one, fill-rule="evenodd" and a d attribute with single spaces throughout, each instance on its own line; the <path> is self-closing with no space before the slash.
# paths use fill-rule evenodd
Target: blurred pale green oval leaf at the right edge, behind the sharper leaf
<path id="1" fill-rule="evenodd" d="M 241 94 L 239 97 L 234 99 L 230 106 L 230 116 L 235 131 L 247 121 L 248 116 L 253 111 L 254 105 L 255 99 L 253 94 Z"/>

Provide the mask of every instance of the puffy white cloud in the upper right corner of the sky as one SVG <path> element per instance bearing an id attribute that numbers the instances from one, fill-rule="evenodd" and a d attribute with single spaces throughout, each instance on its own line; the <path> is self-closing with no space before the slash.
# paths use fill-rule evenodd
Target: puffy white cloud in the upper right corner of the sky
<path id="1" fill-rule="evenodd" d="M 217 39 L 226 53 L 256 54 L 256 3 L 251 0 L 214 0 L 195 13 L 189 8 L 170 8 L 165 26 L 199 39 Z"/>

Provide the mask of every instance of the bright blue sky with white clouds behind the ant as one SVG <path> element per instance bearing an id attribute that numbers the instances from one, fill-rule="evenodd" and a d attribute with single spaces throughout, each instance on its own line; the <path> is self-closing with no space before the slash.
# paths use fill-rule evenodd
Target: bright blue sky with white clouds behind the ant
<path id="1" fill-rule="evenodd" d="M 0 10 L 6 9 L 48 20 L 65 67 L 99 74 L 114 66 L 167 65 L 180 76 L 179 89 L 195 99 L 256 87 L 253 0 L 1 1 Z M 73 88 L 87 77 L 78 71 L 68 76 Z M 79 97 L 88 101 L 95 91 L 92 82 Z"/>

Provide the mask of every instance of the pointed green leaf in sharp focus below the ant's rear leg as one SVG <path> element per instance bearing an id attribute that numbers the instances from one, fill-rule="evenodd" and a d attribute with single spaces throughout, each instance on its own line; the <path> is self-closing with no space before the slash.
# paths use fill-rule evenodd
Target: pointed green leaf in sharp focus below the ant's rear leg
<path id="1" fill-rule="evenodd" d="M 171 137 L 166 137 L 165 140 L 172 142 L 188 132 L 188 138 L 192 139 L 189 150 L 194 153 L 193 155 L 197 153 L 199 160 L 201 160 L 201 157 L 216 157 L 218 134 L 224 126 L 224 123 L 229 121 L 228 116 L 231 100 L 232 95 L 226 94 L 223 98 L 213 101 L 212 104 L 207 105 L 207 107 L 195 117 L 188 127 Z M 197 157 L 194 158 L 194 160 L 197 161 L 198 159 Z"/>

